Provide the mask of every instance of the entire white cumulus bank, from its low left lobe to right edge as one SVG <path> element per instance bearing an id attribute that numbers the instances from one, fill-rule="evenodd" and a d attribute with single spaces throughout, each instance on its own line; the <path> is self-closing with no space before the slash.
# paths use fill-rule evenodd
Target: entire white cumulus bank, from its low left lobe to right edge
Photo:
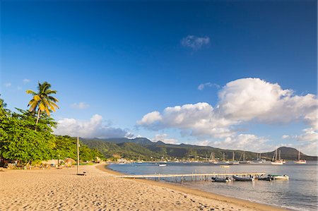
<path id="1" fill-rule="evenodd" d="M 245 140 L 262 143 L 264 138 L 237 135 L 238 126 L 250 121 L 266 124 L 302 122 L 310 127 L 297 139 L 317 140 L 317 97 L 295 95 L 293 90 L 283 90 L 277 83 L 259 78 L 242 78 L 227 83 L 218 92 L 216 107 L 206 102 L 167 107 L 161 113 L 146 114 L 137 124 L 151 130 L 178 128 L 182 134 L 201 140 L 204 136 L 223 138 L 223 143 L 232 141 L 231 144 L 244 143 L 252 147 Z"/>

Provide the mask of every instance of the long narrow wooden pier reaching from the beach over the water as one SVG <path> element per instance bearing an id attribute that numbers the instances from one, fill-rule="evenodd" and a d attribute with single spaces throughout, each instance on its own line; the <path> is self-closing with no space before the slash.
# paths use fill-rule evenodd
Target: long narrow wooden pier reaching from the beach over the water
<path id="1" fill-rule="evenodd" d="M 240 173 L 204 173 L 204 174 L 141 174 L 141 175 L 116 175 L 116 178 L 129 178 L 129 179 L 179 179 L 182 181 L 187 181 L 191 179 L 191 181 L 208 181 L 212 176 L 261 176 L 266 175 L 266 172 L 240 172 Z"/>

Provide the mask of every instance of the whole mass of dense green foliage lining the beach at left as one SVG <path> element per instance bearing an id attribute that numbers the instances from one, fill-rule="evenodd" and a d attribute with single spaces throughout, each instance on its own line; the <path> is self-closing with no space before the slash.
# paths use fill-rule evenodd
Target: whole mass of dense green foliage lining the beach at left
<path id="1" fill-rule="evenodd" d="M 57 126 L 54 119 L 42 114 L 36 124 L 35 112 L 22 109 L 12 112 L 4 108 L 3 100 L 0 102 L 0 159 L 13 160 L 22 166 L 48 159 L 76 159 L 76 139 L 53 135 L 52 128 Z M 86 145 L 81 145 L 80 154 L 82 161 L 103 157 Z"/>

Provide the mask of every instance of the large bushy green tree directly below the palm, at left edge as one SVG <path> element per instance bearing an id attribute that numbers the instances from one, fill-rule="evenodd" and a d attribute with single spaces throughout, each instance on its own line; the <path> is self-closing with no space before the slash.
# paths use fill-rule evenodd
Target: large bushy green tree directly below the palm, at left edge
<path id="1" fill-rule="evenodd" d="M 49 116 L 43 115 L 35 131 L 35 116 L 30 111 L 18 109 L 19 113 L 2 115 L 0 130 L 1 156 L 17 160 L 20 164 L 51 159 L 54 149 L 52 127 L 56 125 Z"/>

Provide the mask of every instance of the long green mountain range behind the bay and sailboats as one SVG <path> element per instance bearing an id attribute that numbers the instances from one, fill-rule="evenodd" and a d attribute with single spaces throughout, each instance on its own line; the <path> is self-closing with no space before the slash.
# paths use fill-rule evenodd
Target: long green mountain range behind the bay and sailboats
<path id="1" fill-rule="evenodd" d="M 242 150 L 224 150 L 220 148 L 210 146 L 197 146 L 197 145 L 173 145 L 166 144 L 163 141 L 153 143 L 148 138 L 107 138 L 107 139 L 81 139 L 83 143 L 91 148 L 96 148 L 102 152 L 105 157 L 112 157 L 117 154 L 122 157 L 130 159 L 160 159 L 165 158 L 178 158 L 178 159 L 206 159 L 210 157 L 211 152 L 214 152 L 215 157 L 222 159 L 223 153 L 225 159 L 232 159 L 233 152 L 235 159 L 242 159 Z M 291 147 L 280 147 L 282 159 L 295 160 L 298 158 L 298 150 Z M 262 158 L 270 160 L 273 157 L 273 152 L 261 153 Z M 302 159 L 317 160 L 317 157 L 308 156 L 301 153 Z M 151 158 L 152 157 L 152 158 Z M 246 159 L 256 159 L 258 157 L 257 152 L 245 151 Z"/>

